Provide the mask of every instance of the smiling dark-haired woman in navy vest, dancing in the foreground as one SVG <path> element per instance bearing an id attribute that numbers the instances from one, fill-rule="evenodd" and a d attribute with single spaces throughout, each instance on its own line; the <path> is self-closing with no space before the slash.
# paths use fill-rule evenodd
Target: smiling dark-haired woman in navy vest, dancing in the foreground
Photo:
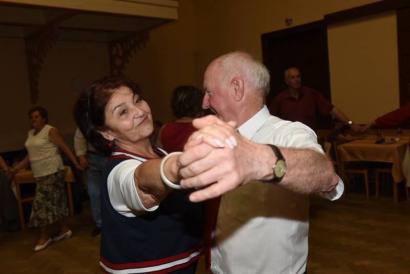
<path id="1" fill-rule="evenodd" d="M 101 179 L 101 268 L 195 273 L 201 205 L 188 201 L 187 190 L 171 191 L 180 180 L 179 155 L 161 160 L 166 152 L 151 146 L 151 110 L 138 85 L 122 76 L 97 81 L 80 94 L 74 118 L 87 141 L 110 157 Z"/>

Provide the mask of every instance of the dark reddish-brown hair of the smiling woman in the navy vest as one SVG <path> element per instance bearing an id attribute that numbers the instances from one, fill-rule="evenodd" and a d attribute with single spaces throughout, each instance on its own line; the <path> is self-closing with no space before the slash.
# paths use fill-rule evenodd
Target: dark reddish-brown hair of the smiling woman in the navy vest
<path id="1" fill-rule="evenodd" d="M 108 129 L 105 110 L 114 91 L 121 87 L 128 87 L 141 97 L 139 86 L 131 80 L 124 76 L 106 76 L 85 88 L 74 104 L 73 115 L 78 128 L 87 142 L 104 156 L 110 156 L 115 146 L 109 145 L 110 142 L 98 131 Z"/>

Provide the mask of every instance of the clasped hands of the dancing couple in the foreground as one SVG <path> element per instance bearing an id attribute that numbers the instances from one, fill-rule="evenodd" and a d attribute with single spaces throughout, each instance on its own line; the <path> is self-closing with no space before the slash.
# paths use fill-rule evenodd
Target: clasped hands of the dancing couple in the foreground
<path id="1" fill-rule="evenodd" d="M 192 124 L 198 131 L 178 159 L 181 187 L 199 188 L 189 199 L 208 200 L 249 182 L 243 148 L 251 142 L 235 131 L 236 123 L 208 115 Z"/>

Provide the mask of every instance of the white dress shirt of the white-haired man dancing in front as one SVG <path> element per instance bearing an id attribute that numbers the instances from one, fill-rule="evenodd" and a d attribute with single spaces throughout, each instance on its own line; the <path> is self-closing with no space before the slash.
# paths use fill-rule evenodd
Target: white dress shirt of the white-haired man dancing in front
<path id="1" fill-rule="evenodd" d="M 266 106 L 238 128 L 252 142 L 323 153 L 315 132 L 270 115 Z M 286 159 L 285 159 L 286 160 Z M 343 182 L 323 196 L 338 199 Z M 308 258 L 309 196 L 252 182 L 222 195 L 211 251 L 214 273 L 303 273 Z"/>

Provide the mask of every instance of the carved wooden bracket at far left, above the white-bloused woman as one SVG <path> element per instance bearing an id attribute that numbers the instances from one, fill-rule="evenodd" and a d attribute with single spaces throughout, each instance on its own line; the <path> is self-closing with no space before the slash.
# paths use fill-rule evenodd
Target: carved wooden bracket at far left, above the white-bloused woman
<path id="1" fill-rule="evenodd" d="M 46 26 L 36 30 L 24 40 L 26 47 L 27 70 L 30 85 L 31 103 L 35 104 L 38 100 L 38 80 L 40 70 L 49 50 L 54 46 L 58 36 L 58 26 L 61 22 L 75 15 L 75 12 L 65 13 L 59 16 Z"/>

